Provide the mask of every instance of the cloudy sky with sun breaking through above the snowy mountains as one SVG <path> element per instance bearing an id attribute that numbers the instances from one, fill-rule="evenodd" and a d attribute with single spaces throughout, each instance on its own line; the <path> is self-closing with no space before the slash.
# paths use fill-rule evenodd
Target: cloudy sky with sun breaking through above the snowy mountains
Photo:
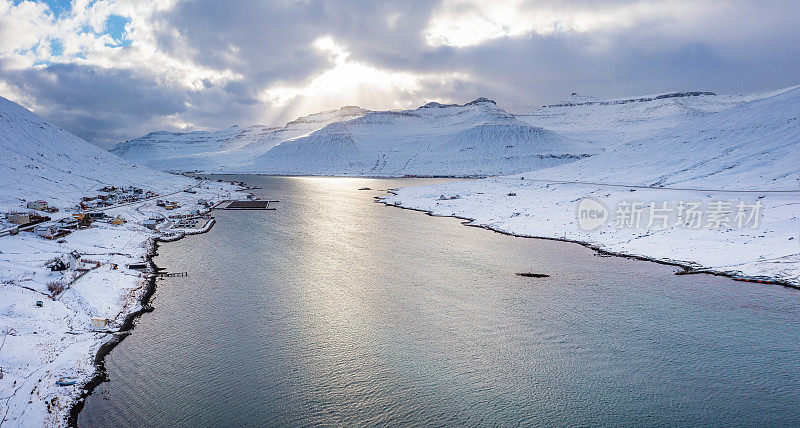
<path id="1" fill-rule="evenodd" d="M 104 147 L 359 105 L 800 84 L 798 0 L 0 0 L 0 96 Z"/>

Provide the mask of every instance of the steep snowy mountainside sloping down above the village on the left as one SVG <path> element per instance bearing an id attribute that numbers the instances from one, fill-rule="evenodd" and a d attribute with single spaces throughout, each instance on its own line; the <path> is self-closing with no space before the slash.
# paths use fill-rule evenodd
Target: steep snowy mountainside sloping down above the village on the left
<path id="1" fill-rule="evenodd" d="M 72 205 L 105 185 L 159 192 L 191 180 L 121 159 L 0 97 L 0 211 L 45 199 Z"/>

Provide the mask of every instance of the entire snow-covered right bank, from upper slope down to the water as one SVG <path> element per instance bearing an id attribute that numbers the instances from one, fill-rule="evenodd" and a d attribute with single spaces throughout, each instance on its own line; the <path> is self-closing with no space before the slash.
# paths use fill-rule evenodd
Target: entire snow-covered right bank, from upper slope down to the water
<path id="1" fill-rule="evenodd" d="M 572 126 L 563 120 L 562 131 L 572 135 L 610 124 L 607 150 L 596 156 L 515 176 L 403 188 L 385 201 L 517 235 L 800 285 L 800 87 L 669 115 L 678 122 L 672 127 L 640 123 L 635 138 L 612 144 L 628 115 L 620 105 L 582 105 L 593 113 Z M 601 220 L 584 224 L 579 215 Z"/>

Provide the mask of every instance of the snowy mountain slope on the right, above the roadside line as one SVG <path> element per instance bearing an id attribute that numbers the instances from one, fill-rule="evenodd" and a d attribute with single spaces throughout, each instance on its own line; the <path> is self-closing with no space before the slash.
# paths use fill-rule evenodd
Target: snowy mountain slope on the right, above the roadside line
<path id="1" fill-rule="evenodd" d="M 751 101 L 741 101 L 746 98 Z M 647 186 L 796 189 L 800 87 L 738 100 L 735 107 L 689 115 L 667 129 L 656 120 L 643 138 L 567 168 L 529 175 Z M 715 108 L 721 104 L 713 103 Z"/>

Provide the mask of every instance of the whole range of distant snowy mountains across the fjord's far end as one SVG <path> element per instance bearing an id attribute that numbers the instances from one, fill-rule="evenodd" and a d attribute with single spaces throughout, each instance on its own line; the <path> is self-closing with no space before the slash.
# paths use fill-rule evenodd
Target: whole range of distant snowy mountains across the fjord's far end
<path id="1" fill-rule="evenodd" d="M 662 132 L 683 124 L 702 127 L 717 113 L 776 94 L 669 92 L 605 100 L 572 94 L 522 115 L 509 114 L 485 98 L 401 111 L 343 107 L 280 128 L 154 132 L 120 143 L 112 152 L 160 170 L 504 175 L 571 163 L 647 138 L 665 138 Z M 602 159 L 611 156 L 616 155 Z"/>

